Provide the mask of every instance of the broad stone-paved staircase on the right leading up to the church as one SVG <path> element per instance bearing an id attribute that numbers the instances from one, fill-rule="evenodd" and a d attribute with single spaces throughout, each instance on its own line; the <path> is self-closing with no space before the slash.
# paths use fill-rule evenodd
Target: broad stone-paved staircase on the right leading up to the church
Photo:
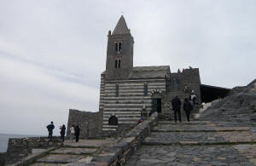
<path id="1" fill-rule="evenodd" d="M 160 121 L 125 165 L 256 164 L 255 127 L 231 122 Z"/>

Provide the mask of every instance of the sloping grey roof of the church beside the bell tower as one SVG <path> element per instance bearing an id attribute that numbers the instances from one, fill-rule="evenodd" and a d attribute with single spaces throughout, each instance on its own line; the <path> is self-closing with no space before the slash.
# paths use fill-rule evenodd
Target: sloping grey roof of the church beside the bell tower
<path id="1" fill-rule="evenodd" d="M 166 77 L 167 72 L 170 72 L 170 66 L 138 66 L 133 67 L 132 73 L 129 78 L 146 79 Z"/>

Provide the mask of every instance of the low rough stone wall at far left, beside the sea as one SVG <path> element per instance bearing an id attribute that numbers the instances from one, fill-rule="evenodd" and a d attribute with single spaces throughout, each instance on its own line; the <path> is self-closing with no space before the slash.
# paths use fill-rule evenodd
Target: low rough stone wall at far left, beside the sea
<path id="1" fill-rule="evenodd" d="M 10 138 L 5 163 L 17 163 L 21 158 L 32 154 L 33 148 L 45 149 L 50 146 L 61 146 L 61 140 L 57 137 L 52 140 L 47 137 Z"/>

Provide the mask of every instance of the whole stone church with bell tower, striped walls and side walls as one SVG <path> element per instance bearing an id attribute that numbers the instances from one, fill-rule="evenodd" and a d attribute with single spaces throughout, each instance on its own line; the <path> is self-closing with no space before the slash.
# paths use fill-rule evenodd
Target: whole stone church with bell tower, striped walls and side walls
<path id="1" fill-rule="evenodd" d="M 153 112 L 171 120 L 172 99 L 176 95 L 183 102 L 195 94 L 197 106 L 200 106 L 201 102 L 224 97 L 230 91 L 201 84 L 198 68 L 171 72 L 170 66 L 133 66 L 133 46 L 134 38 L 122 15 L 113 32 L 108 31 L 99 112 L 70 109 L 67 135 L 73 124 L 80 126 L 82 138 L 113 135 L 137 125 L 140 117 L 147 118 Z"/>

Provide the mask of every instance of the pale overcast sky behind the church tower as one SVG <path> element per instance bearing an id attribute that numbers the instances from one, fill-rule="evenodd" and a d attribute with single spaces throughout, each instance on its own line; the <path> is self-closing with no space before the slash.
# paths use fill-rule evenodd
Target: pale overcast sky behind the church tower
<path id="1" fill-rule="evenodd" d="M 254 0 L 1 0 L 0 133 L 47 135 L 69 108 L 98 111 L 108 30 L 122 12 L 134 66 L 198 67 L 201 83 L 226 88 L 256 78 Z"/>

